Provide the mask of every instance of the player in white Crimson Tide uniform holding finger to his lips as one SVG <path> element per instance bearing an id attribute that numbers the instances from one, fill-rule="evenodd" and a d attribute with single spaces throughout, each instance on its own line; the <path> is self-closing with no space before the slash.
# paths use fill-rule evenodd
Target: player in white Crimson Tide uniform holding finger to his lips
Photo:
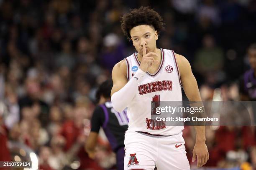
<path id="1" fill-rule="evenodd" d="M 123 16 L 121 28 L 136 51 L 118 62 L 112 71 L 113 107 L 128 107 L 125 133 L 125 170 L 189 170 L 182 138 L 183 126 L 159 127 L 151 120 L 151 101 L 182 101 L 182 87 L 190 101 L 201 101 L 197 81 L 185 57 L 156 47 L 164 23 L 149 7 L 131 10 Z M 193 162 L 201 167 L 209 159 L 205 126 L 195 126 Z"/>

